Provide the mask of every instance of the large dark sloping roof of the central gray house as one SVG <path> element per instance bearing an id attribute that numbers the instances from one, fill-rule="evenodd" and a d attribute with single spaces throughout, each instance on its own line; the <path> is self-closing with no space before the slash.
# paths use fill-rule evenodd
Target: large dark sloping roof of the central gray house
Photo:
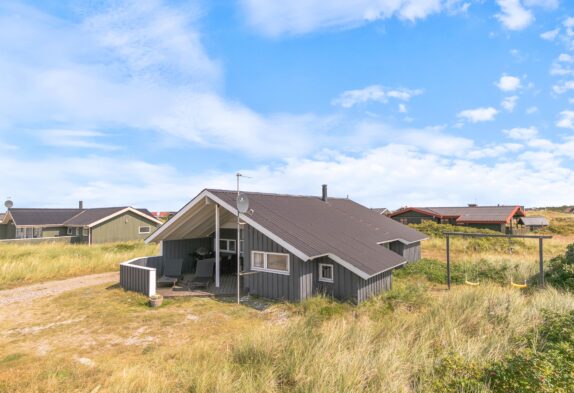
<path id="1" fill-rule="evenodd" d="M 207 190 L 235 206 L 237 193 Z M 350 199 L 246 193 L 250 219 L 311 258 L 333 254 L 368 276 L 401 265 L 406 259 L 379 243 L 406 243 L 426 235 Z M 166 224 L 167 225 L 167 224 Z"/>

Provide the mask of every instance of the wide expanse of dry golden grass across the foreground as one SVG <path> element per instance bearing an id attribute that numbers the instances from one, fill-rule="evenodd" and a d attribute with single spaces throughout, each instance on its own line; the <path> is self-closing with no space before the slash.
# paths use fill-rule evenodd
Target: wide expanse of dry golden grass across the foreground
<path id="1" fill-rule="evenodd" d="M 541 310 L 574 309 L 573 296 L 552 289 L 459 287 L 408 299 L 394 311 L 384 298 L 263 312 L 178 299 L 153 310 L 136 294 L 82 289 L 0 310 L 0 391 L 425 391 L 418 376 L 442 356 L 500 358 Z"/>

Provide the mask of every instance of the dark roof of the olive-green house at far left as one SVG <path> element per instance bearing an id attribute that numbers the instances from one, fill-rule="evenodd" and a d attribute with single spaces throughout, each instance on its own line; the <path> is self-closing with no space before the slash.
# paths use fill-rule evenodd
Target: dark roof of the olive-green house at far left
<path id="1" fill-rule="evenodd" d="M 123 207 L 102 207 L 93 209 L 27 209 L 11 208 L 8 211 L 16 225 L 36 226 L 85 226 L 127 209 Z M 147 209 L 136 209 L 155 220 Z"/>

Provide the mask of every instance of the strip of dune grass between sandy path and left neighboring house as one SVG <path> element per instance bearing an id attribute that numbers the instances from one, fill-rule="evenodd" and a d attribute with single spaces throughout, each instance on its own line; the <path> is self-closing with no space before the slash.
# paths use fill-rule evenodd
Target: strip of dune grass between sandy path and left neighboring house
<path id="1" fill-rule="evenodd" d="M 141 241 L 112 244 L 2 244 L 0 289 L 118 270 L 120 262 L 157 255 L 157 245 Z"/>

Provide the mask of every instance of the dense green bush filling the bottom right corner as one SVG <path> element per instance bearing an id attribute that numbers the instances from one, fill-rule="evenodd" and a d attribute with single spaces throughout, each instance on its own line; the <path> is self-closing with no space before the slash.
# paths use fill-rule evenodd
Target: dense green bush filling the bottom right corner
<path id="1" fill-rule="evenodd" d="M 574 392 L 574 311 L 545 313 L 517 342 L 520 349 L 490 364 L 446 356 L 416 383 L 433 392 Z"/>

